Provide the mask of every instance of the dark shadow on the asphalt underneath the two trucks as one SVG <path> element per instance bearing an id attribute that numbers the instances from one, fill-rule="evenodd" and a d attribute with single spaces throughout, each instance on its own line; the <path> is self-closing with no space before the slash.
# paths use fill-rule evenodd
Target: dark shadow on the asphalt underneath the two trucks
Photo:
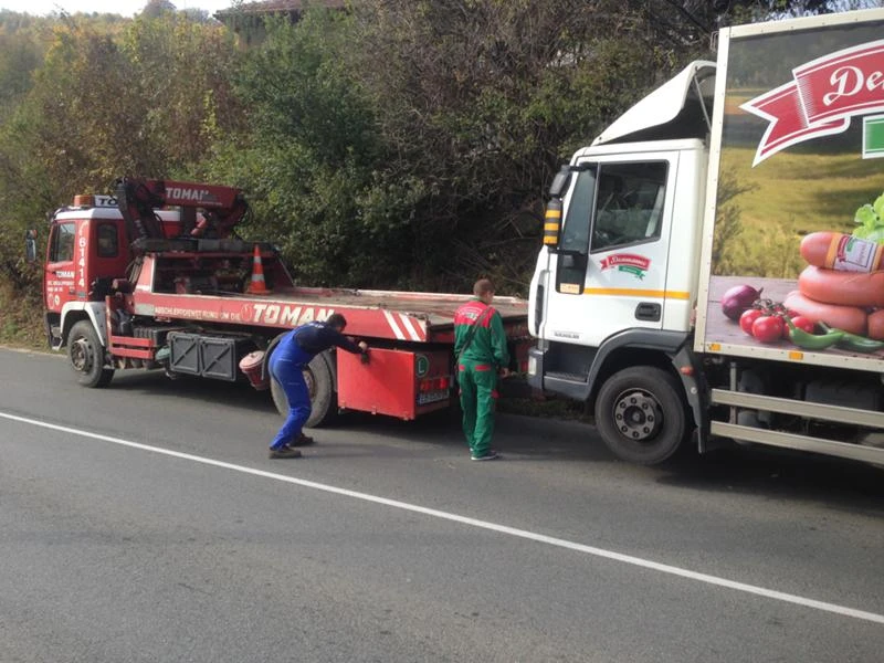
<path id="1" fill-rule="evenodd" d="M 188 377 L 169 380 L 162 373 L 151 371 L 120 373 L 114 378 L 110 389 L 144 393 L 160 402 L 186 399 L 198 407 L 211 401 L 224 408 L 277 415 L 270 392 L 255 391 L 246 382 Z M 349 412 L 338 417 L 332 428 L 406 443 L 417 439 L 456 451 L 463 450 L 465 444 L 457 408 L 434 412 L 417 421 Z M 495 446 L 505 453 L 507 463 L 573 463 L 585 465 L 587 472 L 598 464 L 619 465 L 634 481 L 651 481 L 698 492 L 822 501 L 852 513 L 859 509 L 869 515 L 884 516 L 884 470 L 839 459 L 734 444 L 703 456 L 687 451 L 663 465 L 642 467 L 618 461 L 589 424 L 516 414 L 498 415 Z"/>

